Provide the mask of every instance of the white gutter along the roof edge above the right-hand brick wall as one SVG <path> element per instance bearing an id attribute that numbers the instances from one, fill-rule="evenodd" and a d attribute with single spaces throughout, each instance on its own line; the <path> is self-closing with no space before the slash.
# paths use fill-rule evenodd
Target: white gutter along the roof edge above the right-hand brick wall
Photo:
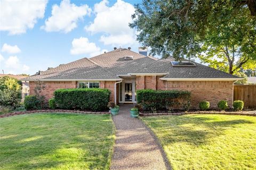
<path id="1" fill-rule="evenodd" d="M 167 81 L 237 81 L 244 78 L 159 78 Z"/>

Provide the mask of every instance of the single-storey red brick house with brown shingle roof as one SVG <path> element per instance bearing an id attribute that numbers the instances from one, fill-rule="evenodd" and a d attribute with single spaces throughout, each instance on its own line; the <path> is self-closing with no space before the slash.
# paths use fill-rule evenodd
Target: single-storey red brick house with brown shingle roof
<path id="1" fill-rule="evenodd" d="M 126 48 L 103 53 L 93 58 L 83 58 L 59 67 L 41 71 L 39 75 L 23 80 L 29 81 L 33 94 L 35 81 L 45 83 L 46 99 L 53 96 L 58 88 L 108 88 L 110 101 L 135 103 L 136 91 L 188 90 L 191 104 L 207 100 L 211 107 L 217 107 L 220 100 L 233 102 L 233 84 L 241 78 L 219 70 L 189 61 L 177 62 L 173 58 L 156 59 L 145 56 L 145 50 L 136 53 Z M 144 54 L 144 55 L 142 55 Z"/>

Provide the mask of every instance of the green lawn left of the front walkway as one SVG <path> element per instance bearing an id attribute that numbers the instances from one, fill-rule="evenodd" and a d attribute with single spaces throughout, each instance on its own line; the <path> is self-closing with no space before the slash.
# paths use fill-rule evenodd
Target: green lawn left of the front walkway
<path id="1" fill-rule="evenodd" d="M 20 115 L 0 127 L 0 169 L 109 169 L 110 115 Z"/>

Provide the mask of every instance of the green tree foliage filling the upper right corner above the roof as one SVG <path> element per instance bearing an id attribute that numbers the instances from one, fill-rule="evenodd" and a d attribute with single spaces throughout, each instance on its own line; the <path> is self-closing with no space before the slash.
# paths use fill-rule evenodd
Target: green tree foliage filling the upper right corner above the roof
<path id="1" fill-rule="evenodd" d="M 256 59 L 255 11 L 256 0 L 145 0 L 135 5 L 130 27 L 153 55 L 182 60 L 212 53 L 239 68 Z"/>

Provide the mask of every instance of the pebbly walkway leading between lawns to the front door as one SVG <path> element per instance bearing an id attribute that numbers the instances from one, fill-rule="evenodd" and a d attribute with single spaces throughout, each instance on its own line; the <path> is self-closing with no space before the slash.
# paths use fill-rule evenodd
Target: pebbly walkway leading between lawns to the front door
<path id="1" fill-rule="evenodd" d="M 110 169 L 171 169 L 154 134 L 138 118 L 130 117 L 133 105 L 121 105 L 113 116 L 116 142 Z"/>

